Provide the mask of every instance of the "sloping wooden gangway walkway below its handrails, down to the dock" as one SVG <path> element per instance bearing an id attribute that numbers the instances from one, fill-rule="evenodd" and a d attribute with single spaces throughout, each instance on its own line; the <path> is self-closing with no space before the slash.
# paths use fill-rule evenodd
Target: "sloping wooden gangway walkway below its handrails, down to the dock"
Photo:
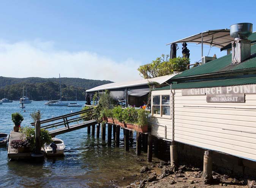
<path id="1" fill-rule="evenodd" d="M 77 130 L 77 129 L 85 128 L 87 126 L 95 125 L 96 123 L 97 123 L 96 120 L 89 120 L 89 121 L 78 123 L 75 125 L 70 125 L 68 127 L 62 127 L 59 129 L 55 129 L 55 130 L 49 131 L 49 133 L 51 134 L 52 137 L 55 137 L 58 134 L 63 134 L 63 133 L 67 133 L 70 131 Z"/>

